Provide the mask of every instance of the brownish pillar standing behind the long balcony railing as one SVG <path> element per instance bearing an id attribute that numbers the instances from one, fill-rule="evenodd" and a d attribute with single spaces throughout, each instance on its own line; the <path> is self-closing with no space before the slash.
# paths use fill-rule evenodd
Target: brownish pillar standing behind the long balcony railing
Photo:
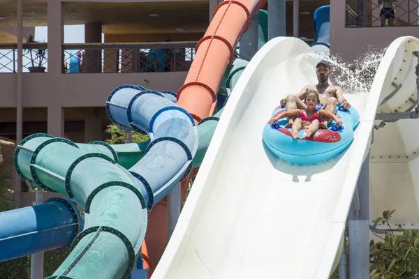
<path id="1" fill-rule="evenodd" d="M 84 43 L 102 43 L 102 23 L 84 24 Z M 86 50 L 83 59 L 84 73 L 101 73 L 101 50 Z"/>

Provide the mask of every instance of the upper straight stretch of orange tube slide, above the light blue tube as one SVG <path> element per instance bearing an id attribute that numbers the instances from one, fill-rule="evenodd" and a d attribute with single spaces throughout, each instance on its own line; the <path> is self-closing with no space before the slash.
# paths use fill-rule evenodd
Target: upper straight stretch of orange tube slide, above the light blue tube
<path id="1" fill-rule="evenodd" d="M 216 91 L 226 67 L 233 63 L 234 47 L 265 1 L 226 0 L 217 6 L 204 38 L 196 45 L 185 83 L 177 92 L 177 105 L 187 110 L 196 123 L 213 114 Z"/>

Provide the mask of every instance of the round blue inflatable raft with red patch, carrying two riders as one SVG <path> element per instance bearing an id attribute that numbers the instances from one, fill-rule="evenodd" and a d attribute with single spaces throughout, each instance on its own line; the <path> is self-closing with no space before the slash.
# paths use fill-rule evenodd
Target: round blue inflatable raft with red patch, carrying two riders
<path id="1" fill-rule="evenodd" d="M 283 112 L 285 107 L 277 107 L 272 117 Z M 292 137 L 291 128 L 285 128 L 288 118 L 274 123 L 268 121 L 263 129 L 263 142 L 272 153 L 289 163 L 312 165 L 324 162 L 348 148 L 360 123 L 360 114 L 353 107 L 349 110 L 337 107 L 337 117 L 343 122 L 342 127 L 338 128 L 335 121 L 331 121 L 328 129 L 319 129 L 310 137 L 300 130 L 297 139 Z"/>

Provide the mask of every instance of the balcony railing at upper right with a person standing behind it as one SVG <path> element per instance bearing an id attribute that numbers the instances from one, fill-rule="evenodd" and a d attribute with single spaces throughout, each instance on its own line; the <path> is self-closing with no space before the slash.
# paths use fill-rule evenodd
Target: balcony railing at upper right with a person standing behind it
<path id="1" fill-rule="evenodd" d="M 346 0 L 346 27 L 419 25 L 419 0 Z"/>

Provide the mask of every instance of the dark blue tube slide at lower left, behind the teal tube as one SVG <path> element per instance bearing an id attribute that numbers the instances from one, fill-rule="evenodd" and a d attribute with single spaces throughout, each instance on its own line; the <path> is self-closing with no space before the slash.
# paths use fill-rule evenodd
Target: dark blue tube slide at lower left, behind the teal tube
<path id="1" fill-rule="evenodd" d="M 73 202 L 52 197 L 43 204 L 0 213 L 0 262 L 45 250 L 69 248 L 84 220 Z"/>

